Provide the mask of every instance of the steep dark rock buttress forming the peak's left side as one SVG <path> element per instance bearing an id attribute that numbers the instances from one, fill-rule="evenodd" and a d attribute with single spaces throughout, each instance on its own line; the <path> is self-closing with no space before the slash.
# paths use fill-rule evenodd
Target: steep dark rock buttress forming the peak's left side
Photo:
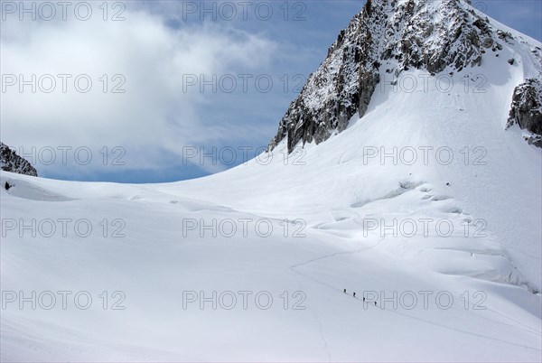
<path id="1" fill-rule="evenodd" d="M 370 23 L 371 12 L 369 2 L 339 34 L 326 60 L 286 111 L 268 150 L 285 137 L 289 151 L 300 140 L 321 143 L 332 130 L 344 130 L 356 112 L 365 112 L 378 84 L 379 65 L 372 41 L 376 29 Z"/>

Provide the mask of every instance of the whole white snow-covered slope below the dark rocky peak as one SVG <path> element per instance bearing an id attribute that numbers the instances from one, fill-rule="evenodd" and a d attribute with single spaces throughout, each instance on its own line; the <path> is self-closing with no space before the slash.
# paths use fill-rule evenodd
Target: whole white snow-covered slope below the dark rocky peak
<path id="1" fill-rule="evenodd" d="M 0 357 L 540 361 L 541 149 L 504 131 L 538 69 L 501 44 L 442 83 L 402 70 L 325 142 L 210 177 L 1 172 Z"/>

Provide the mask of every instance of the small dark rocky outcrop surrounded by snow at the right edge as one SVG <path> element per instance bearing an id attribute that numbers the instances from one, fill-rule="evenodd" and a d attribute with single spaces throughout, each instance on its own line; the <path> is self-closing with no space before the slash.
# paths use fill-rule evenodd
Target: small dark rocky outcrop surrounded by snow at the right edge
<path id="1" fill-rule="evenodd" d="M 526 79 L 514 89 L 507 128 L 518 125 L 531 135 L 528 144 L 542 147 L 542 82 Z"/>

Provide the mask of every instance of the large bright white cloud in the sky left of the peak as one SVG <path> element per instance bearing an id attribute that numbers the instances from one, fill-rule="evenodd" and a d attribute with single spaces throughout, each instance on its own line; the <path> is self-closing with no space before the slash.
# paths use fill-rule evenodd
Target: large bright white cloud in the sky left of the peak
<path id="1" fill-rule="evenodd" d="M 88 21 L 3 21 L 1 138 L 6 144 L 27 151 L 86 146 L 95 155 L 103 146 L 109 151 L 121 146 L 126 168 L 145 169 L 170 163 L 163 154 L 180 156 L 184 145 L 224 144 L 231 135 L 254 132 L 254 126 L 220 123 L 220 114 L 210 122 L 206 110 L 217 96 L 199 87 L 183 88 L 183 81 L 187 75 L 212 79 L 213 74 L 261 68 L 272 61 L 275 42 L 229 23 L 173 28 L 143 8 L 126 9 L 126 20 L 118 22 L 95 14 Z M 19 84 L 6 85 L 5 80 L 14 82 L 12 74 L 17 83 L 21 74 L 25 81 L 35 75 L 36 92 L 32 85 L 23 86 L 23 92 Z M 91 87 L 84 93 L 88 79 Z M 85 169 L 102 166 L 89 163 Z M 66 168 L 61 163 L 49 168 L 54 167 Z"/>

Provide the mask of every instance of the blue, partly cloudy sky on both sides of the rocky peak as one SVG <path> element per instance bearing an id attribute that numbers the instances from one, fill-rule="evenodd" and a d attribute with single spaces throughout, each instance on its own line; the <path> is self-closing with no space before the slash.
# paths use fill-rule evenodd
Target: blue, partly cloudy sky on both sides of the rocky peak
<path id="1" fill-rule="evenodd" d="M 180 181 L 261 154 L 356 1 L 2 1 L 0 140 L 42 177 Z M 542 40 L 540 0 L 472 0 Z"/>

